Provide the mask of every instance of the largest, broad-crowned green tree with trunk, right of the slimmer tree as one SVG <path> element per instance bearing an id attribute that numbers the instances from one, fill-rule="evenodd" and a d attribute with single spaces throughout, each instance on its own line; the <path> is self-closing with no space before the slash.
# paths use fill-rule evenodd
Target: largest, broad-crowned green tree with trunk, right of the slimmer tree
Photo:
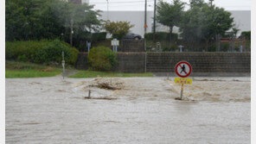
<path id="1" fill-rule="evenodd" d="M 224 34 L 232 28 L 234 18 L 222 8 L 208 6 L 207 3 L 193 6 L 186 11 L 180 31 L 184 41 L 191 43 L 204 42 L 208 51 L 209 42 L 214 40 L 216 34 Z"/>

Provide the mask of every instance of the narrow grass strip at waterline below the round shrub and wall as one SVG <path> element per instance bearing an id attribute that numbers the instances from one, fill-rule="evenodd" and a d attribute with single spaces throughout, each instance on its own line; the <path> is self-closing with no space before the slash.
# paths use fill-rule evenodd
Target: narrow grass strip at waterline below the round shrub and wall
<path id="1" fill-rule="evenodd" d="M 96 78 L 96 77 L 154 77 L 150 72 L 146 73 L 119 73 L 119 72 L 96 72 L 79 71 L 69 78 Z"/>

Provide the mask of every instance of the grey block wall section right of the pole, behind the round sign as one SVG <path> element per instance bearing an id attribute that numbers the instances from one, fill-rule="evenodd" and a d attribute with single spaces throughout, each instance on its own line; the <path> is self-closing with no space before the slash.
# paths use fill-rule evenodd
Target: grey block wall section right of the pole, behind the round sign
<path id="1" fill-rule="evenodd" d="M 147 53 L 147 72 L 175 72 L 182 60 L 192 72 L 251 72 L 251 53 Z"/>

